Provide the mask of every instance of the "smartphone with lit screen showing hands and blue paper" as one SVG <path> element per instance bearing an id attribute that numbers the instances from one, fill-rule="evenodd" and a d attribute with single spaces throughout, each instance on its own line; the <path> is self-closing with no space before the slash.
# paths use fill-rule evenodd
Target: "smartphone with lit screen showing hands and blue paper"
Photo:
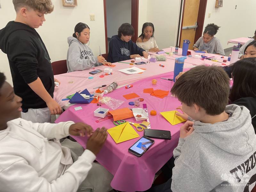
<path id="1" fill-rule="evenodd" d="M 143 136 L 128 151 L 137 157 L 141 157 L 154 143 L 153 139 Z"/>

